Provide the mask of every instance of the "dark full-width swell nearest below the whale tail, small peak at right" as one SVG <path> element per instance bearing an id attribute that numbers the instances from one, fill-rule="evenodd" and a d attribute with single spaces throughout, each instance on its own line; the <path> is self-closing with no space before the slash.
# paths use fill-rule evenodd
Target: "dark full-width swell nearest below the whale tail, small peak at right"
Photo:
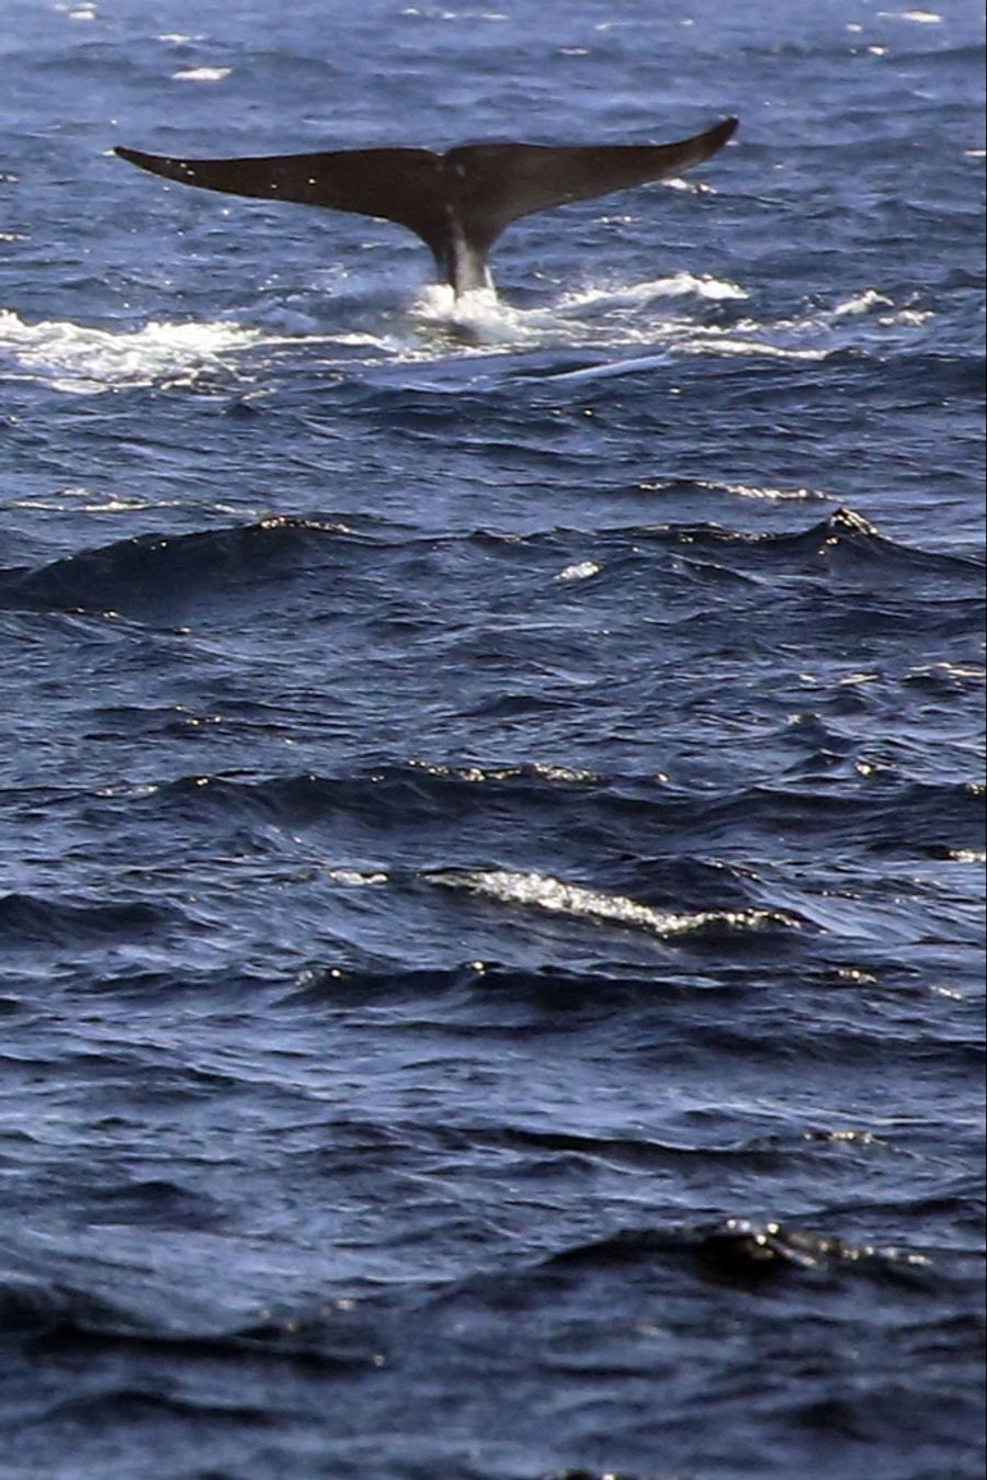
<path id="1" fill-rule="evenodd" d="M 676 485 L 679 493 L 688 490 L 690 484 Z M 476 531 L 465 539 L 463 548 L 463 536 L 423 539 L 397 528 L 358 533 L 340 522 L 278 515 L 231 528 L 139 536 L 34 570 L 4 570 L 0 596 L 7 610 L 197 607 L 244 592 L 255 592 L 262 601 L 265 586 L 277 589 L 284 580 L 315 576 L 329 585 L 345 579 L 354 565 L 363 568 L 368 562 L 400 573 L 432 555 L 454 571 L 462 564 L 482 567 L 488 556 L 522 570 L 540 568 L 546 561 L 564 562 L 579 548 L 602 559 L 604 570 L 614 562 L 626 567 L 632 555 L 647 554 L 658 559 L 664 555 L 663 564 L 672 574 L 685 570 L 706 579 L 730 571 L 756 582 L 808 577 L 873 591 L 920 574 L 929 602 L 940 586 L 953 599 L 957 585 L 966 586 L 971 602 L 983 591 L 983 561 L 901 545 L 843 508 L 796 533 L 747 534 L 700 524 L 604 527 L 589 542 L 574 530 L 506 539 Z M 476 551 L 472 559 L 471 546 Z"/>

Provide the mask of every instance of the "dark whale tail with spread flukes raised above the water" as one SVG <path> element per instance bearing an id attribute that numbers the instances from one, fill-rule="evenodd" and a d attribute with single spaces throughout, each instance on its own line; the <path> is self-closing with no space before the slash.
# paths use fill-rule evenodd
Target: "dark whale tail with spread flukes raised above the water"
<path id="1" fill-rule="evenodd" d="M 425 241 L 444 280 L 465 293 L 490 283 L 487 255 L 512 221 L 681 175 L 721 149 L 735 127 L 727 118 L 679 144 L 468 144 L 445 154 L 398 148 L 185 160 L 114 152 L 201 189 L 397 222 Z"/>

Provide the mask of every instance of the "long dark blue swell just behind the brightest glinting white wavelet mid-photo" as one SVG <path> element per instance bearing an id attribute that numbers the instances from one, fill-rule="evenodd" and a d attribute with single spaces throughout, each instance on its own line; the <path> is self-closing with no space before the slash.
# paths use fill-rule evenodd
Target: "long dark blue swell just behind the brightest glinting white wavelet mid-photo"
<path id="1" fill-rule="evenodd" d="M 796 743 L 801 739 L 796 733 Z M 801 839 L 817 847 L 824 838 L 830 845 L 904 857 L 983 851 L 983 789 L 975 783 L 910 777 L 891 764 L 854 765 L 852 756 L 832 749 L 806 749 L 799 746 L 790 778 L 775 774 L 700 793 L 648 776 L 568 778 L 522 768 L 460 774 L 439 768 L 437 774 L 428 764 L 411 764 L 349 777 L 189 776 L 135 796 L 129 807 L 161 820 L 201 818 L 219 829 L 246 818 L 303 829 L 314 839 L 329 832 L 336 839 L 349 832 L 354 841 L 376 835 L 391 847 L 398 844 L 392 861 L 401 864 L 422 860 L 423 852 L 428 857 L 423 836 L 434 850 L 448 850 L 451 863 L 468 852 L 471 838 L 479 847 L 512 826 L 519 830 L 515 850 L 524 855 L 534 847 L 525 833 L 537 823 L 542 842 L 565 854 L 567 839 L 570 848 L 574 841 L 576 855 L 607 858 L 607 867 L 623 879 L 633 878 L 635 866 L 621 854 L 639 857 L 641 873 L 647 870 L 653 881 L 651 898 L 658 897 L 663 879 L 669 889 L 678 885 L 681 891 L 693 881 L 698 892 L 719 887 L 728 898 L 741 898 L 743 861 L 752 854 L 750 842 L 730 847 L 738 820 L 750 839 L 765 842 L 784 827 L 795 848 Z M 704 847 L 735 851 L 737 864 L 725 864 L 715 851 L 703 858 L 698 850 Z"/>

